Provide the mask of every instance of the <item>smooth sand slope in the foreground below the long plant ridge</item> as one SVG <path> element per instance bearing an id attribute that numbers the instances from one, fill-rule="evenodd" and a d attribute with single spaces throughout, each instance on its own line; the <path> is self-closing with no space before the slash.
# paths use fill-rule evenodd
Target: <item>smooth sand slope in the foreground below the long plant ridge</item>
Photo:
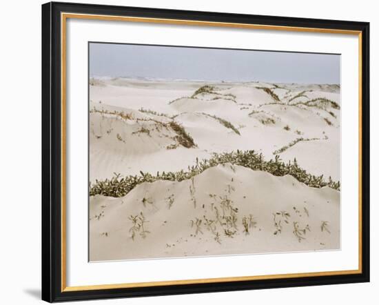
<path id="1" fill-rule="evenodd" d="M 331 188 L 309 188 L 291 176 L 232 164 L 209 168 L 193 180 L 141 184 L 125 197 L 96 195 L 90 198 L 90 260 L 337 249 L 339 199 Z M 132 239 L 130 216 L 140 213 L 148 233 L 140 228 Z M 233 215 L 235 227 L 225 220 Z M 243 218 L 249 224 L 249 215 L 253 223 L 244 233 Z M 197 233 L 196 219 L 201 220 Z M 300 241 L 294 222 L 298 230 L 309 228 L 300 232 Z M 235 233 L 228 237 L 225 230 Z"/>

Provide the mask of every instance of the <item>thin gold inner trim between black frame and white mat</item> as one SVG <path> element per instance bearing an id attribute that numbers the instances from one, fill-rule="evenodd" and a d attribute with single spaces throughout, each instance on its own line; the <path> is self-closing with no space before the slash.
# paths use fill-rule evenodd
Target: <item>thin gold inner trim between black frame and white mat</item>
<path id="1" fill-rule="evenodd" d="M 276 275 L 252 275 L 242 277 L 217 277 L 207 279 L 180 279 L 161 282 L 136 282 L 123 284 L 101 284 L 88 286 L 66 286 L 66 21 L 67 19 L 91 19 L 101 21 L 128 21 L 143 23 L 162 23 L 183 26 L 211 26 L 223 28 L 245 28 L 254 30 L 283 30 L 289 32 L 318 32 L 329 34 L 358 36 L 358 269 L 320 271 L 312 273 L 287 273 Z M 205 284 L 222 282 L 240 282 L 259 279 L 289 279 L 294 277 L 318 277 L 332 275 L 354 275 L 362 273 L 362 32 L 358 30 L 340 30 L 327 28 L 303 28 L 291 26 L 269 26 L 247 23 L 223 23 L 214 21 L 194 21 L 181 19 L 160 19 L 145 17 L 125 17 L 96 14 L 61 13 L 61 292 L 92 291 L 100 289 L 136 288 L 152 286 L 170 286 L 185 284 Z"/>

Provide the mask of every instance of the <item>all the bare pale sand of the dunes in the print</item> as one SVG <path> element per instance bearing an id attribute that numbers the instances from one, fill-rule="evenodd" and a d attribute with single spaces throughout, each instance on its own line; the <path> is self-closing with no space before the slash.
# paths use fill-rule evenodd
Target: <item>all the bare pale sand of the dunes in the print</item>
<path id="1" fill-rule="evenodd" d="M 340 179 L 340 110 L 328 103 L 325 107 L 305 105 L 318 98 L 331 99 L 339 104 L 337 86 L 278 84 L 280 88 L 274 89 L 269 83 L 212 83 L 216 93 L 191 98 L 203 85 L 196 81 L 94 81 L 94 86 L 90 86 L 90 109 L 98 111 L 90 113 L 90 180 L 111 178 L 114 173 L 139 175 L 140 170 L 153 175 L 157 171 L 186 170 L 187 166 L 195 164 L 196 157 L 207 159 L 212 153 L 237 149 L 256 150 L 263 153 L 265 159 L 273 159 L 275 150 L 300 137 L 316 139 L 299 141 L 280 153 L 280 159 L 292 161 L 296 157 L 299 166 L 309 173 Z M 259 87 L 273 88 L 280 102 Z M 296 97 L 302 92 L 305 96 Z M 140 108 L 169 117 L 140 112 Z M 112 114 L 113 111 L 129 117 L 125 119 Z M 161 124 L 172 121 L 172 115 L 176 115 L 174 121 L 192 136 L 195 148 L 178 146 L 167 149 L 178 145 L 174 130 Z M 210 117 L 212 115 L 229 121 L 240 135 Z M 285 130 L 285 126 L 290 129 Z M 291 176 L 275 177 L 240 166 L 235 166 L 234 170 L 229 165 L 217 166 L 196 176 L 196 208 L 189 191 L 191 180 L 141 184 L 121 198 L 90 197 L 90 259 L 340 247 L 340 193 L 337 190 L 310 188 Z M 228 185 L 234 190 L 228 192 Z M 209 193 L 215 194 L 217 200 L 209 197 Z M 221 197 L 225 195 L 232 199 L 234 208 L 238 208 L 236 233 L 233 238 L 227 237 L 223 231 L 225 226 L 218 224 L 214 232 L 220 234 L 219 244 L 214 240 L 216 235 L 207 230 L 204 217 L 215 220 L 212 208 L 220 208 Z M 147 200 L 145 205 L 143 198 Z M 171 208 L 168 208 L 169 198 L 174 198 Z M 272 213 L 281 211 L 287 211 L 290 217 L 278 216 L 279 220 L 283 218 L 283 228 L 281 233 L 274 235 L 276 228 Z M 128 217 L 141 212 L 148 221 L 145 227 L 150 233 L 143 238 L 138 232 L 132 239 L 132 221 Z M 245 235 L 242 222 L 249 214 L 254 215 L 256 224 L 249 235 Z M 200 228 L 203 234 L 198 232 L 191 236 L 196 231 L 196 225 L 191 227 L 191 220 L 196 217 L 202 219 Z M 321 231 L 324 221 L 330 233 Z M 305 239 L 300 242 L 294 234 L 294 222 L 298 222 L 299 230 L 307 225 L 310 228 L 310 231 L 306 229 Z"/>

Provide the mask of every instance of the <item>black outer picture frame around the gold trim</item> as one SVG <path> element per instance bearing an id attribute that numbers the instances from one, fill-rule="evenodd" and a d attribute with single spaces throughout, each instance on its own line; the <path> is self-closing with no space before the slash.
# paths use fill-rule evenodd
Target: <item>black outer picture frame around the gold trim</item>
<path id="1" fill-rule="evenodd" d="M 216 23 L 358 31 L 361 35 L 361 268 L 360 273 L 66 291 L 62 273 L 61 13 L 98 14 Z M 45 3 L 42 6 L 42 299 L 141 297 L 184 293 L 369 282 L 369 23 L 154 8 Z"/>

